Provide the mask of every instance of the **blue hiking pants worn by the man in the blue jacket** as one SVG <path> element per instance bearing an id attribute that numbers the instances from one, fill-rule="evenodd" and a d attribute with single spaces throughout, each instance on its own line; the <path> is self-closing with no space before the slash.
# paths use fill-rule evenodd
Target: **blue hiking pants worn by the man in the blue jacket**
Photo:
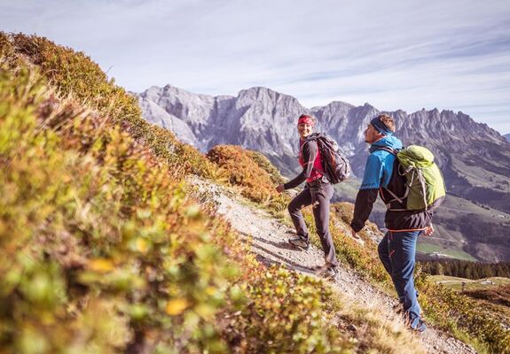
<path id="1" fill-rule="evenodd" d="M 416 259 L 416 242 L 421 232 L 388 231 L 378 247 L 382 265 L 391 276 L 400 303 L 404 305 L 405 317 L 414 329 L 420 327 L 420 304 L 412 273 Z"/>

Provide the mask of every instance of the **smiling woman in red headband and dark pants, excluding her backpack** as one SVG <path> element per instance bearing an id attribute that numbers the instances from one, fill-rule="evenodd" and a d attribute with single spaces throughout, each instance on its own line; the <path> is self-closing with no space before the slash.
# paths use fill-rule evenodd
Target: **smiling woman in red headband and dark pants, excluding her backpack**
<path id="1" fill-rule="evenodd" d="M 333 186 L 326 178 L 321 163 L 321 154 L 318 150 L 318 142 L 307 139 L 315 125 L 315 119 L 308 114 L 302 114 L 297 121 L 297 131 L 300 136 L 299 163 L 302 172 L 294 180 L 280 184 L 276 190 L 282 193 L 286 189 L 293 189 L 306 181 L 306 186 L 300 194 L 288 204 L 288 212 L 294 223 L 296 236 L 288 240 L 294 247 L 308 250 L 310 245 L 308 229 L 304 223 L 301 209 L 312 205 L 315 226 L 318 237 L 322 243 L 325 255 L 325 265 L 317 268 L 318 275 L 334 279 L 337 273 L 338 260 L 333 245 L 333 239 L 329 233 L 329 203 L 333 196 Z"/>

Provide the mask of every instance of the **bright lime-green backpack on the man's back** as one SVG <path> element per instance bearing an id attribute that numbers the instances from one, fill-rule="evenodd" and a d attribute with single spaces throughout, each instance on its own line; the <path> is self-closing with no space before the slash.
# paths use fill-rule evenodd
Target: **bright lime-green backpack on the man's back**
<path id="1" fill-rule="evenodd" d="M 384 149 L 386 150 L 386 149 Z M 396 151 L 392 151 L 394 154 Z M 443 174 L 435 165 L 434 154 L 427 148 L 411 145 L 396 152 L 398 171 L 405 176 L 405 195 L 392 195 L 403 204 L 407 197 L 406 209 L 409 211 L 434 210 L 443 203 L 446 196 Z"/>

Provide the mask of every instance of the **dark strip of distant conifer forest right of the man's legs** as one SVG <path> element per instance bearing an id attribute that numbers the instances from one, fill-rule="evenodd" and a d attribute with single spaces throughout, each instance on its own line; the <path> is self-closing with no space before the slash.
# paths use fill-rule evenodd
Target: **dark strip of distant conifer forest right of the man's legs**
<path id="1" fill-rule="evenodd" d="M 478 263 L 467 260 L 430 260 L 420 262 L 423 272 L 467 279 L 510 278 L 510 263 Z"/>

